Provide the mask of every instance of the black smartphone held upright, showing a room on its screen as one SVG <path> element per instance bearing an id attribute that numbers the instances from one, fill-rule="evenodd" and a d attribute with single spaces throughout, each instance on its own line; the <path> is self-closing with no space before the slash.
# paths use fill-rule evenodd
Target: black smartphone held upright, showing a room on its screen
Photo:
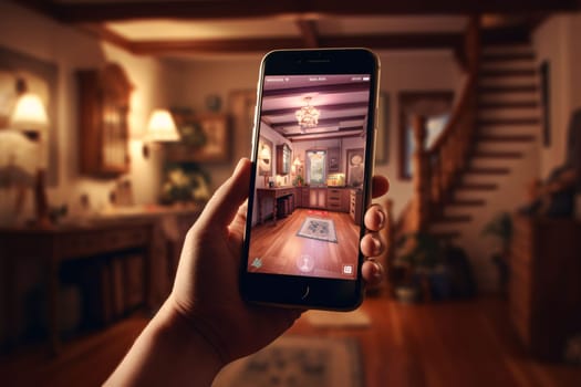
<path id="1" fill-rule="evenodd" d="M 350 311 L 363 301 L 380 81 L 366 49 L 278 50 L 261 62 L 240 291 Z"/>

